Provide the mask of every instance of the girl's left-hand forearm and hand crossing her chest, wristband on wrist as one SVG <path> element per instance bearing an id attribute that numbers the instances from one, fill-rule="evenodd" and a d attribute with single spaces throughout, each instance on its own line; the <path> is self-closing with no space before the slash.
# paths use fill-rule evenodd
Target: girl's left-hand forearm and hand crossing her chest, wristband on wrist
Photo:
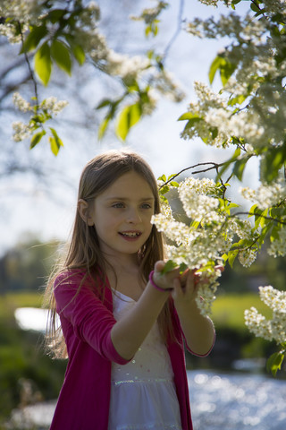
<path id="1" fill-rule="evenodd" d="M 171 271 L 159 276 L 163 267 L 164 262 L 156 262 L 154 281 L 160 288 L 173 288 L 173 282 L 178 276 L 178 271 Z M 150 282 L 147 282 L 147 286 L 136 305 L 122 320 L 114 324 L 111 339 L 114 348 L 121 357 L 130 360 L 134 356 L 156 323 L 168 297 L 168 291 L 158 291 Z"/>

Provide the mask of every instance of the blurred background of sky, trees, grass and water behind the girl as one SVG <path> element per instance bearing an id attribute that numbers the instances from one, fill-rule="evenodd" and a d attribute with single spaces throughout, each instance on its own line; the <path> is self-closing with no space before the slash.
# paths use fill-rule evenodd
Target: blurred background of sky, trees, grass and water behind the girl
<path id="1" fill-rule="evenodd" d="M 144 38 L 143 24 L 128 20 L 130 14 L 147 7 L 145 2 L 134 3 L 124 0 L 118 7 L 114 0 L 98 2 L 110 46 L 131 55 L 144 53 L 153 43 Z M 241 13 L 247 8 L 242 4 Z M 177 122 L 194 99 L 192 82 L 208 82 L 209 65 L 225 40 L 194 39 L 184 31 L 173 38 L 179 20 L 222 12 L 223 6 L 178 0 L 162 15 L 154 45 L 161 52 L 168 50 L 165 67 L 174 73 L 186 98 L 178 104 L 161 100 L 156 112 L 131 130 L 127 141 L 128 147 L 147 159 L 156 176 L 228 157 L 225 150 L 182 141 L 182 126 Z M 44 143 L 29 150 L 29 142 L 13 142 L 12 123 L 22 120 L 13 108 L 13 91 L 21 87 L 26 99 L 31 94 L 28 71 L 18 51 L 18 46 L 0 38 L 0 56 L 5 59 L 0 64 L 0 429 L 31 430 L 48 428 L 66 366 L 65 361 L 47 357 L 42 345 L 46 314 L 40 308 L 46 278 L 71 230 L 82 168 L 98 152 L 122 148 L 122 143 L 112 129 L 103 142 L 97 142 L 102 117 L 95 107 L 120 88 L 91 64 L 75 67 L 68 80 L 57 70 L 51 84 L 40 89 L 42 99 L 55 95 L 70 103 L 55 122 L 64 142 L 58 157 Z M 219 82 L 214 82 L 216 87 Z M 244 185 L 255 188 L 257 184 L 257 167 L 249 165 Z M 232 193 L 239 186 L 234 184 Z M 224 271 L 214 302 L 214 350 L 204 359 L 186 355 L 195 429 L 286 428 L 285 372 L 273 380 L 265 371 L 265 360 L 275 345 L 251 335 L 243 316 L 251 305 L 270 316 L 259 300 L 258 287 L 284 288 L 285 276 L 285 259 L 269 259 L 264 253 L 249 269 L 235 262 L 233 269 Z"/>

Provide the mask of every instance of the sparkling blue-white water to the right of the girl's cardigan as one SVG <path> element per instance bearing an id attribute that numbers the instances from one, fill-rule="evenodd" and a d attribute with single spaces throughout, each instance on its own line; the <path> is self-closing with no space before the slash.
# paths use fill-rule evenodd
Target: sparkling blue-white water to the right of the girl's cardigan
<path id="1" fill-rule="evenodd" d="M 197 430 L 285 430 L 286 383 L 258 374 L 188 372 Z"/>

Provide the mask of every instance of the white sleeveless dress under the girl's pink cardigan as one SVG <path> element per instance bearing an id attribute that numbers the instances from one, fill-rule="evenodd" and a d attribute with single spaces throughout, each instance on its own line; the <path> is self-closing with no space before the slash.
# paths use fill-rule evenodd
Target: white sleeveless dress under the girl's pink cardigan
<path id="1" fill-rule="evenodd" d="M 118 321 L 136 302 L 116 291 Z M 109 430 L 181 430 L 171 360 L 157 323 L 133 359 L 112 364 Z"/>

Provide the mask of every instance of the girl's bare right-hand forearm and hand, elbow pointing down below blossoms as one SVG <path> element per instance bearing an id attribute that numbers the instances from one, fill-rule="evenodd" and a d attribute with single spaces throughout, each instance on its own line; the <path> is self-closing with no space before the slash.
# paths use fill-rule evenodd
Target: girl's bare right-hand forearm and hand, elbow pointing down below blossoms
<path id="1" fill-rule="evenodd" d="M 173 287 L 172 298 L 187 345 L 194 354 L 206 356 L 214 345 L 214 324 L 200 314 L 195 300 L 198 286 L 193 273 L 189 271 L 184 288 L 178 279 L 174 280 Z"/>

